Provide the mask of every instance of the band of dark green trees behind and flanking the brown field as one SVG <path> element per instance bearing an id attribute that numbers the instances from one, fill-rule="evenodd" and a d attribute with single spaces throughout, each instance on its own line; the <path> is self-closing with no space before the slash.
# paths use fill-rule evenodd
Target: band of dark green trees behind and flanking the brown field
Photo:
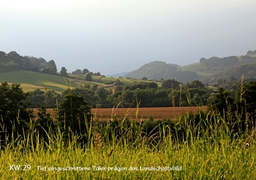
<path id="1" fill-rule="evenodd" d="M 123 107 L 151 107 L 153 103 L 158 107 L 208 104 L 210 111 L 216 111 L 224 119 L 231 117 L 233 122 L 230 123 L 234 123 L 237 118 L 242 119 L 242 124 L 236 124 L 238 126 L 234 127 L 236 131 L 253 128 L 248 127 L 243 119 L 250 119 L 250 124 L 255 125 L 256 104 L 253 98 L 256 96 L 255 80 L 246 82 L 242 79 L 235 92 L 224 90 L 221 87 L 218 87 L 216 94 L 211 92 L 200 81 L 180 84 L 174 79 L 166 80 L 162 87 L 158 87 L 155 82 L 133 82 L 128 85 L 120 85 L 119 82 L 115 93 L 104 89 L 104 87 L 83 85 L 75 89 L 67 89 L 62 94 L 56 94 L 54 91 L 42 93 L 40 90 L 25 93 L 18 83 L 9 85 L 7 82 L 2 82 L 0 85 L 0 138 L 10 139 L 13 132 L 23 135 L 29 131 L 29 127 L 37 129 L 44 138 L 47 138 L 48 131 L 57 131 L 58 129 L 60 132 L 67 132 L 67 135 L 70 131 L 82 135 L 86 133 L 88 121 L 93 118 L 92 107 L 98 106 L 98 104 L 104 107 L 109 103 L 116 105 L 116 103 L 120 103 L 119 100 Z M 33 106 L 33 99 L 36 99 L 36 106 L 39 110 L 37 120 L 30 108 Z M 47 113 L 47 103 L 55 108 L 56 120 L 53 120 Z M 113 104 L 109 106 L 112 107 Z M 209 114 L 206 112 L 201 115 L 202 117 L 192 118 L 195 121 L 193 123 L 198 123 L 198 118 L 204 119 L 203 116 Z M 1 143 L 4 142 L 1 141 Z"/>

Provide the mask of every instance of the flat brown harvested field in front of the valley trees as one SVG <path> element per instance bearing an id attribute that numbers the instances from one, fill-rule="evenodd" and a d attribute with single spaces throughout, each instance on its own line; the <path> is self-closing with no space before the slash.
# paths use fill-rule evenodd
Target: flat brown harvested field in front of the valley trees
<path id="1" fill-rule="evenodd" d="M 198 109 L 205 111 L 207 109 L 204 107 L 146 107 L 139 108 L 139 118 L 138 120 L 148 119 L 149 115 L 152 115 L 155 119 L 177 119 L 182 112 L 197 112 Z M 136 110 L 137 108 L 93 108 L 92 114 L 95 115 L 99 120 L 111 120 L 116 117 L 117 119 L 123 119 L 125 116 L 136 120 Z M 47 110 L 51 114 L 51 117 L 55 119 L 54 111 L 52 109 Z M 34 109 L 34 114 L 38 112 Z"/>

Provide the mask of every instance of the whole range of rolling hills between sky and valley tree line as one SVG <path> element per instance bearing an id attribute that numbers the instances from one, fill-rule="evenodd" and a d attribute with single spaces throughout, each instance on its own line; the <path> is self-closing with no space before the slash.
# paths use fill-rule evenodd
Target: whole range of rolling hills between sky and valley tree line
<path id="1" fill-rule="evenodd" d="M 60 76 L 56 72 L 53 60 L 47 62 L 43 58 L 23 57 L 17 52 L 0 52 L 0 82 L 21 83 L 25 91 L 44 89 L 46 86 L 47 89 L 60 93 L 67 89 L 68 85 L 77 87 L 84 83 L 111 89 L 117 80 L 126 84 L 131 81 L 139 81 L 137 79 L 143 77 L 152 80 L 176 79 L 184 83 L 200 80 L 213 85 L 219 78 L 229 80 L 230 77 L 235 77 L 239 79 L 242 74 L 245 78 L 256 78 L 256 51 L 248 51 L 246 55 L 242 56 L 210 57 L 208 59 L 202 57 L 199 62 L 186 66 L 153 61 L 125 74 L 124 78 L 96 75 L 92 76 L 93 82 L 84 81 L 84 75 L 68 74 L 72 78 Z M 157 83 L 161 86 L 161 82 Z"/>

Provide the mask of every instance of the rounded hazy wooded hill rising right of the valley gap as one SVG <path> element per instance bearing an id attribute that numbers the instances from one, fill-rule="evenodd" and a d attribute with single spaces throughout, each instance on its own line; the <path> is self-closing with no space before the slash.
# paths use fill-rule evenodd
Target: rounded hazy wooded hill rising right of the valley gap
<path id="1" fill-rule="evenodd" d="M 130 73 L 125 74 L 124 78 L 136 78 L 141 79 L 147 77 L 148 79 L 176 79 L 181 82 L 189 82 L 194 79 L 198 79 L 196 72 L 190 70 L 180 70 L 177 64 L 166 64 L 163 61 L 153 61 L 148 64 L 141 66 L 137 70 L 133 70 Z"/>

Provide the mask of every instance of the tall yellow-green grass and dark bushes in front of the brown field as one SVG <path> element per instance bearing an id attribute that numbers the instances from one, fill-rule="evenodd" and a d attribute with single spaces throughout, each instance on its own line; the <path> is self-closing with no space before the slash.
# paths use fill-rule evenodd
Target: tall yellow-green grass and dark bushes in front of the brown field
<path id="1" fill-rule="evenodd" d="M 189 85 L 189 84 L 188 84 Z M 99 121 L 70 87 L 56 119 L 29 93 L 0 86 L 0 175 L 3 179 L 253 179 L 256 173 L 256 81 L 235 93 L 218 89 L 208 111 L 176 121 L 128 115 Z M 188 104 L 192 99 L 188 96 Z M 136 102 L 139 115 L 140 102 Z"/>

